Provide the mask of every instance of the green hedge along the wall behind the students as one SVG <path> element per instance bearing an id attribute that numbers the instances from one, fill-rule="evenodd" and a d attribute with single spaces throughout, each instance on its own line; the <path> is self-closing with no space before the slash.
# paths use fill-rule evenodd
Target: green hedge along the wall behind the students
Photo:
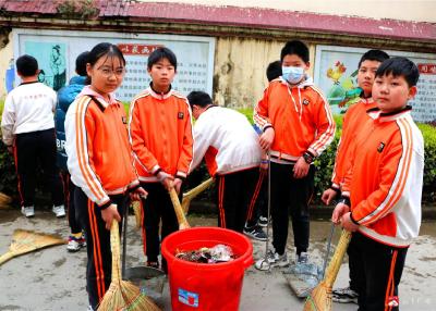
<path id="1" fill-rule="evenodd" d="M 0 101 L 0 115 L 3 111 L 3 102 Z M 251 123 L 253 123 L 252 109 L 240 110 Z M 319 197 L 324 189 L 329 187 L 331 170 L 335 163 L 335 152 L 339 141 L 342 116 L 336 115 L 337 132 L 330 147 L 315 160 L 317 173 L 315 176 L 315 203 L 319 203 Z M 428 124 L 417 125 L 424 136 L 425 148 L 425 167 L 424 167 L 424 189 L 423 201 L 425 203 L 436 202 L 436 130 L 435 127 Z M 204 164 L 198 170 L 193 172 L 187 178 L 186 188 L 192 188 L 201 182 L 207 179 L 208 173 Z M 0 191 L 16 197 L 16 175 L 13 164 L 13 157 L 7 151 L 3 142 L 0 142 Z M 206 191 L 199 199 L 209 201 L 213 199 L 214 192 Z"/>

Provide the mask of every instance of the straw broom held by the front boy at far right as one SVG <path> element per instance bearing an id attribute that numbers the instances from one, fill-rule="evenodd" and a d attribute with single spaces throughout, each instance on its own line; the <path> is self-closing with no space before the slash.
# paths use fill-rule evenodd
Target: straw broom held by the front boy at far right
<path id="1" fill-rule="evenodd" d="M 331 289 L 334 287 L 339 269 L 342 264 L 343 256 L 351 239 L 351 233 L 343 229 L 338 246 L 328 264 L 326 276 L 312 290 L 305 303 L 304 311 L 330 311 L 331 310 Z"/>

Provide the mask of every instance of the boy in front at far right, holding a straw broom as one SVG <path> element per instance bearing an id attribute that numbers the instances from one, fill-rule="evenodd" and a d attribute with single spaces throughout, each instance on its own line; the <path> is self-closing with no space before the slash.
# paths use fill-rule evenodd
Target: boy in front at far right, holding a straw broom
<path id="1" fill-rule="evenodd" d="M 408 247 L 419 235 L 424 142 L 407 105 L 416 94 L 416 65 L 405 58 L 378 67 L 372 112 L 352 144 L 351 169 L 332 221 L 353 232 L 363 269 L 359 310 L 398 310 Z"/>

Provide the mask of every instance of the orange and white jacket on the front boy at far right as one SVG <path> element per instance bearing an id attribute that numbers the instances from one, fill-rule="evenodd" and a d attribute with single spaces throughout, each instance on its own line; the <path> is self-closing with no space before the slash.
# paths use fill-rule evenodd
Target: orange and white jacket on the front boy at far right
<path id="1" fill-rule="evenodd" d="M 372 112 L 353 144 L 343 196 L 359 231 L 382 244 L 408 247 L 421 225 L 424 141 L 408 107 Z"/>

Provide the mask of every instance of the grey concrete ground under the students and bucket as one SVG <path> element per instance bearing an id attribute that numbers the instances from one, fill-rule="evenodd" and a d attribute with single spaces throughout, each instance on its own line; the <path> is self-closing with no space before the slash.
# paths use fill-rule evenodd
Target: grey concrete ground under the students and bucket
<path id="1" fill-rule="evenodd" d="M 141 236 L 130 216 L 128 265 L 144 264 Z M 214 215 L 189 217 L 193 226 L 216 225 Z M 436 298 L 436 222 L 424 223 L 421 236 L 409 250 L 400 285 L 401 310 L 435 310 Z M 312 222 L 311 259 L 322 262 L 330 224 Z M 34 229 L 68 237 L 66 220 L 57 220 L 49 211 L 36 210 L 34 219 L 25 219 L 17 210 L 0 210 L 0 253 L 4 253 L 16 228 Z M 337 231 L 335 242 L 339 236 Z M 288 245 L 292 244 L 290 235 Z M 262 258 L 265 242 L 253 241 L 254 259 Z M 289 254 L 293 253 L 291 247 Z M 347 259 L 346 259 L 347 260 Z M 12 259 L 0 266 L 0 310 L 86 310 L 86 252 L 66 252 L 56 246 Z M 342 264 L 336 286 L 346 286 L 347 264 Z M 156 300 L 164 310 L 171 310 L 168 283 Z M 291 291 L 281 271 L 259 272 L 250 268 L 244 277 L 240 310 L 302 310 L 304 301 Z M 356 310 L 355 304 L 334 304 L 335 310 Z"/>

